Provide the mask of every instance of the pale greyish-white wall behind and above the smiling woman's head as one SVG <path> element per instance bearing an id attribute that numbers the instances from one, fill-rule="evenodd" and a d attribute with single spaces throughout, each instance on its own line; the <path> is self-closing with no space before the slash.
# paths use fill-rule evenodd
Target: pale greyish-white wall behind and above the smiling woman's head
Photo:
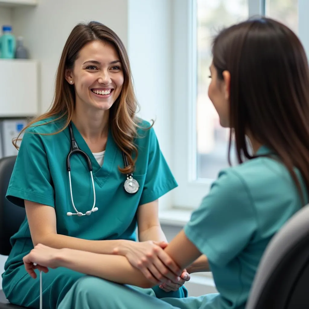
<path id="1" fill-rule="evenodd" d="M 45 112 L 52 103 L 57 65 L 73 27 L 79 22 L 99 21 L 112 28 L 127 46 L 127 3 L 127 0 L 39 0 L 35 8 L 13 10 L 14 34 L 24 37 L 31 58 L 40 62 L 40 112 Z"/>

